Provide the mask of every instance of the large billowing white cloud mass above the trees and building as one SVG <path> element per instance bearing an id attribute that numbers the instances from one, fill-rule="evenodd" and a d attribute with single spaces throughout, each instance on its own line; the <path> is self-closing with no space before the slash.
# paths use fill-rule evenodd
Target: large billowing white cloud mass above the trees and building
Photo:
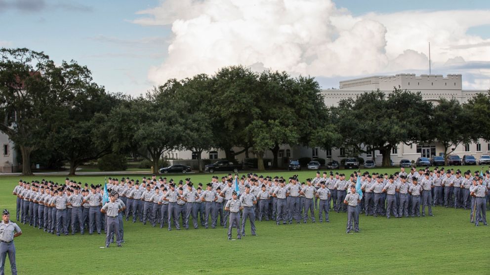
<path id="1" fill-rule="evenodd" d="M 456 57 L 490 60 L 490 39 L 466 34 L 490 24 L 485 10 L 353 16 L 326 0 L 166 0 L 138 14 L 135 24 L 171 26 L 168 56 L 148 72 L 156 84 L 237 64 L 319 77 L 411 72 L 428 69 L 429 41 L 441 71 Z"/>

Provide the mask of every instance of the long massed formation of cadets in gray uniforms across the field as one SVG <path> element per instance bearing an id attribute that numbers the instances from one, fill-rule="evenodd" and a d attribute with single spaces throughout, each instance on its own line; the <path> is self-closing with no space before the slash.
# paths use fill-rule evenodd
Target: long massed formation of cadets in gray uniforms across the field
<path id="1" fill-rule="evenodd" d="M 361 177 L 362 200 L 356 197 L 355 184 Z M 238 188 L 235 184 L 238 182 Z M 432 206 L 470 209 L 470 221 L 487 225 L 486 209 L 489 201 L 490 172 L 483 176 L 477 171 L 461 173 L 444 168 L 433 171 L 404 168 L 393 175 L 358 173 L 346 175 L 336 172 L 317 172 L 313 178 L 300 182 L 297 175 L 285 179 L 280 176 L 258 176 L 249 173 L 221 177 L 212 176 L 205 187 L 197 188 L 186 178 L 178 183 L 153 175 L 141 182 L 128 177 L 109 178 L 110 200 L 102 204 L 103 188 L 66 179 L 58 184 L 52 181 L 25 182 L 20 180 L 13 190 L 17 196 L 16 218 L 23 224 L 56 235 L 101 234 L 106 232 L 106 246 L 116 237 L 118 245 L 124 242 L 123 218 L 133 223 L 153 227 L 181 226 L 198 228 L 237 228 L 239 239 L 245 236 L 248 220 L 252 236 L 256 236 L 255 221 L 274 220 L 277 225 L 329 222 L 329 211 L 348 212 L 347 233 L 359 231 L 359 214 L 396 217 L 433 215 Z M 238 192 L 236 192 L 238 191 Z M 420 208 L 422 209 L 420 211 Z M 219 219 L 219 224 L 218 224 Z M 192 221 L 192 225 L 190 225 Z"/>

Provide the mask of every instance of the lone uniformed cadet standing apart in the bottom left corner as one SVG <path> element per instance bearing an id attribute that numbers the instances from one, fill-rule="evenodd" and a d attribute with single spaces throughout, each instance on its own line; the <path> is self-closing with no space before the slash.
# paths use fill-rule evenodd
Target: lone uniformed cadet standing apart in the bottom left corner
<path id="1" fill-rule="evenodd" d="M 14 238 L 22 235 L 20 227 L 10 220 L 10 213 L 3 209 L 0 222 L 0 274 L 5 272 L 5 259 L 8 254 L 10 270 L 12 275 L 17 275 L 17 265 L 15 264 L 15 245 Z"/>

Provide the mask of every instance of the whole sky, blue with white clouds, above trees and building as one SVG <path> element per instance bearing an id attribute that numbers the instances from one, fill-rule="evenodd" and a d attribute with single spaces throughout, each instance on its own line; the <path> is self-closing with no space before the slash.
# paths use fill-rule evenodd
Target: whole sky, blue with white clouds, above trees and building
<path id="1" fill-rule="evenodd" d="M 0 47 L 86 65 L 110 92 L 244 65 L 340 80 L 460 73 L 490 88 L 488 0 L 0 0 Z"/>

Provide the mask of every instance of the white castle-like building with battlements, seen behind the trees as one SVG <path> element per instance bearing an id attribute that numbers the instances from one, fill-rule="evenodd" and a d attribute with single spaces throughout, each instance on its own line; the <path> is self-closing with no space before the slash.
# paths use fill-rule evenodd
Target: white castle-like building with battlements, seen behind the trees
<path id="1" fill-rule="evenodd" d="M 422 74 L 416 76 L 415 74 L 401 73 L 390 76 L 368 76 L 345 80 L 339 84 L 339 89 L 322 91 L 327 106 L 336 106 L 343 99 L 356 98 L 365 92 L 376 91 L 377 89 L 390 93 L 394 87 L 412 92 L 420 92 L 424 100 L 434 103 L 437 103 L 441 98 L 455 98 L 460 103 L 465 103 L 474 95 L 487 92 L 486 90 L 462 90 L 461 74 L 448 74 L 444 77 L 440 74 Z M 437 142 L 412 145 L 402 143 L 392 151 L 391 159 L 395 165 L 398 165 L 402 159 L 416 160 L 421 156 L 430 158 L 432 155 L 441 155 L 443 150 L 444 147 Z M 478 143 L 459 144 L 452 154 L 457 154 L 460 157 L 463 157 L 463 155 L 473 155 L 478 159 L 480 155 L 488 153 L 490 153 L 490 143 L 482 139 Z M 195 159 L 191 151 L 167 152 L 164 156 L 181 160 Z M 202 154 L 203 159 L 219 159 L 224 157 L 225 153 L 220 150 L 213 150 Z M 252 153 L 250 153 L 250 157 L 253 157 Z M 266 152 L 265 158 L 272 159 L 272 157 L 272 152 Z M 287 166 L 288 159 L 298 159 L 301 157 L 310 157 L 312 159 L 323 158 L 327 162 L 332 160 L 340 162 L 346 156 L 343 148 L 325 151 L 320 148 L 290 147 L 289 145 L 285 145 L 279 151 L 279 166 L 285 167 Z M 374 157 L 377 165 L 380 165 L 382 161 L 382 155 L 378 151 L 375 151 L 374 156 L 362 154 L 361 157 L 365 160 L 373 159 Z M 237 156 L 237 160 L 239 161 L 243 161 L 244 159 L 245 154 Z"/>

